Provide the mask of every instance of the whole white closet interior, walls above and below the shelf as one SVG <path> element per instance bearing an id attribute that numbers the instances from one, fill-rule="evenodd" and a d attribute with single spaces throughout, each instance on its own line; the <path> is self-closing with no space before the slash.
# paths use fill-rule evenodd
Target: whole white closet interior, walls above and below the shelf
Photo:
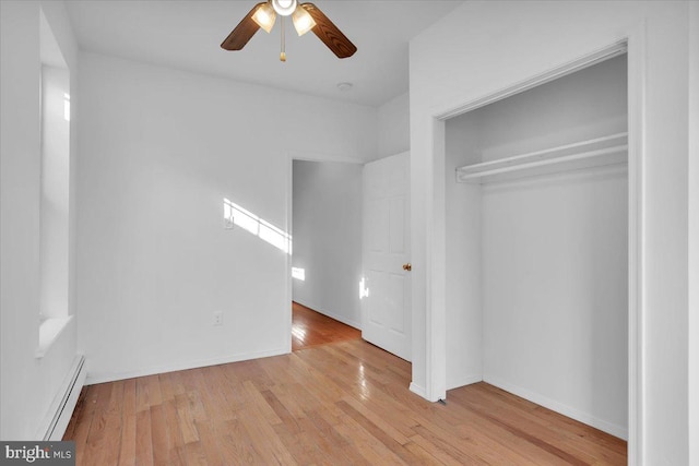
<path id="1" fill-rule="evenodd" d="M 454 180 L 626 131 L 625 55 L 447 121 L 448 389 L 485 380 L 626 437 L 626 164 Z"/>

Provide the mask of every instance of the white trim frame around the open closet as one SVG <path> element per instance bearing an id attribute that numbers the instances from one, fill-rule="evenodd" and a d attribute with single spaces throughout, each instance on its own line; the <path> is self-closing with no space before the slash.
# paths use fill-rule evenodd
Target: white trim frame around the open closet
<path id="1" fill-rule="evenodd" d="M 642 458 L 643 437 L 643 294 L 641 283 L 644 271 L 643 256 L 643 159 L 645 115 L 645 29 L 640 25 L 628 36 L 602 49 L 591 51 L 572 61 L 547 70 L 529 80 L 514 83 L 496 93 L 457 105 L 435 107 L 431 110 L 431 131 L 428 160 L 431 179 L 428 183 L 426 218 L 427 261 L 426 283 L 426 386 L 423 396 L 430 401 L 447 396 L 447 348 L 443 336 L 447 331 L 445 302 L 446 283 L 446 199 L 443 195 L 446 160 L 446 122 L 449 118 L 466 113 L 494 101 L 519 94 L 537 85 L 556 80 L 626 52 L 628 59 L 628 462 L 638 464 Z M 412 386 L 412 385 L 411 385 Z"/>

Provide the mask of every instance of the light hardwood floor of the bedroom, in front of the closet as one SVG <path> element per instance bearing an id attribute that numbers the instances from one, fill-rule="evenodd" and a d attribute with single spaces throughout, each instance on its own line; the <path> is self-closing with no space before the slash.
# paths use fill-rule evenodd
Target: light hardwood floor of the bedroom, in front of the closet
<path id="1" fill-rule="evenodd" d="M 83 389 L 78 465 L 626 464 L 626 443 L 485 383 L 447 405 L 362 339 Z"/>

